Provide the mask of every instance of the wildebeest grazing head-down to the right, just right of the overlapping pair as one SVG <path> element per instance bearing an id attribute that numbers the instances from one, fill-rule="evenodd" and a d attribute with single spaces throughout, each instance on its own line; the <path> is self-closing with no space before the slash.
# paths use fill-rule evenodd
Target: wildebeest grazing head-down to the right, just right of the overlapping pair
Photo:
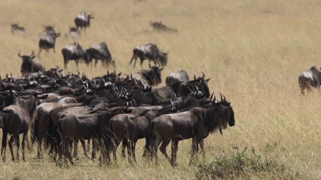
<path id="1" fill-rule="evenodd" d="M 137 46 L 133 49 L 133 55 L 129 64 L 134 60 L 134 68 L 136 66 L 136 60 L 139 57 L 140 59 L 140 66 L 142 67 L 142 62 L 145 59 L 153 61 L 154 64 L 165 66 L 167 65 L 168 61 L 168 52 L 164 53 L 161 52 L 155 44 L 149 43 L 142 46 Z"/>

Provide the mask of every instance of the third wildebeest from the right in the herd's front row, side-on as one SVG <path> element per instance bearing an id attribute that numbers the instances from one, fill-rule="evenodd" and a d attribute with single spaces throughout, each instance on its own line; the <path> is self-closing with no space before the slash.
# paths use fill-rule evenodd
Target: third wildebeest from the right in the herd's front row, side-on
<path id="1" fill-rule="evenodd" d="M 57 122 L 57 131 L 59 135 L 57 137 L 59 147 L 59 162 L 61 162 L 62 154 L 64 152 L 65 157 L 73 163 L 69 145 L 74 139 L 95 139 L 98 140 L 102 149 L 102 160 L 108 160 L 110 162 L 110 156 L 107 154 L 111 145 L 110 131 L 109 131 L 109 119 L 118 113 L 130 112 L 128 107 L 117 107 L 112 110 L 102 111 L 97 110 L 87 114 L 70 114 Z M 93 142 L 95 142 L 93 140 Z M 102 141 L 101 141 L 102 140 Z M 62 143 L 60 143 L 62 142 Z M 63 145 L 63 146 L 62 146 Z M 93 143 L 93 145 L 96 145 Z M 96 147 L 93 146 L 93 149 Z"/>

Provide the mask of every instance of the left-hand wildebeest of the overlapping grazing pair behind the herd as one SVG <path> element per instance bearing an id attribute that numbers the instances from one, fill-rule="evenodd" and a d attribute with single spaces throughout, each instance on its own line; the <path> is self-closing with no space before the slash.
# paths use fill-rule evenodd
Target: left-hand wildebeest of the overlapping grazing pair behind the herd
<path id="1" fill-rule="evenodd" d="M 84 49 L 78 42 L 74 42 L 70 45 L 66 45 L 61 52 L 64 57 L 64 65 L 66 69 L 69 60 L 75 60 L 78 67 L 79 60 L 85 59 L 86 49 Z"/>

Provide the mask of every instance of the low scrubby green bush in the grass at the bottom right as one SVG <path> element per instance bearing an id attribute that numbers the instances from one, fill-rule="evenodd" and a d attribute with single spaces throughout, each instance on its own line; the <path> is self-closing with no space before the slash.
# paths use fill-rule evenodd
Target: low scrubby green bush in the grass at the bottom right
<path id="1" fill-rule="evenodd" d="M 253 173 L 267 172 L 280 178 L 292 179 L 298 176 L 297 172 L 291 171 L 284 163 L 279 163 L 271 157 L 257 155 L 255 150 L 247 152 L 247 147 L 231 156 L 226 154 L 216 156 L 213 160 L 204 161 L 197 165 L 197 179 L 233 178 L 236 176 L 249 176 Z"/>

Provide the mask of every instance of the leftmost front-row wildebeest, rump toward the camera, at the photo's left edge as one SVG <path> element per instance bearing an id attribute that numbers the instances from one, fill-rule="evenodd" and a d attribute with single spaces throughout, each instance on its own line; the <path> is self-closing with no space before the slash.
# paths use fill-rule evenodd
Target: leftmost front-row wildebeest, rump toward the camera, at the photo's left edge
<path id="1" fill-rule="evenodd" d="M 27 98 L 27 97 L 25 97 Z M 45 97 L 43 97 L 45 98 Z M 1 154 L 3 154 L 3 160 L 6 160 L 6 148 L 7 148 L 7 135 L 12 134 L 9 140 L 9 147 L 12 155 L 12 160 L 15 160 L 13 143 L 16 141 L 17 145 L 17 159 L 19 159 L 19 147 L 20 138 L 19 134 L 23 133 L 22 140 L 22 156 L 25 159 L 25 141 L 28 136 L 29 126 L 32 119 L 34 110 L 36 109 L 39 99 L 36 99 L 33 95 L 29 99 L 17 98 L 15 103 L 7 106 L 2 113 L 4 113 L 3 119 L 3 140 Z M 27 139 L 28 140 L 28 139 Z"/>

